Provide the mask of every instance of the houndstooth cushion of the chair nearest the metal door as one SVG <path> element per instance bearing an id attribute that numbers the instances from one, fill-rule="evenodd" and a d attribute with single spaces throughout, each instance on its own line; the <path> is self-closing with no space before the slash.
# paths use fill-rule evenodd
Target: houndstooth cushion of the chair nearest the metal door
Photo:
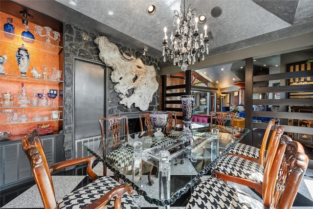
<path id="1" fill-rule="evenodd" d="M 115 149 L 107 155 L 112 163 L 118 168 L 123 168 L 133 163 L 134 148 L 130 146 Z"/>

